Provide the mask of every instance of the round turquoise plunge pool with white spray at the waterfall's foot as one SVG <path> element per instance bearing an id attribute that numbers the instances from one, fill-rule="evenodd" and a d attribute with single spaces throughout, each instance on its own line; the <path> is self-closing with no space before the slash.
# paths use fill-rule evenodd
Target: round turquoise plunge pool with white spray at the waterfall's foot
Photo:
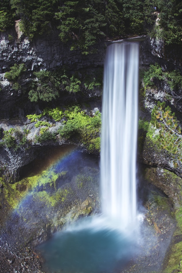
<path id="1" fill-rule="evenodd" d="M 121 272 L 131 259 L 133 249 L 136 251 L 134 243 L 119 230 L 90 219 L 56 233 L 50 241 L 39 246 L 48 270 L 62 273 Z"/>

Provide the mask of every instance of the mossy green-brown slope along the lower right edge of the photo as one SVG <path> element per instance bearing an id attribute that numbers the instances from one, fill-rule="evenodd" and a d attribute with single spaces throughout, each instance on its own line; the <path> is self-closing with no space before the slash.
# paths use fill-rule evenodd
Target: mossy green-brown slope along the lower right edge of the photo
<path id="1" fill-rule="evenodd" d="M 178 272 L 177 270 L 179 269 L 179 263 L 182 258 L 182 179 L 176 174 L 165 169 L 161 169 L 161 172 L 157 173 L 156 168 L 146 169 L 146 178 L 150 183 L 155 184 L 156 186 L 163 185 L 164 189 L 166 187 L 167 192 L 171 192 L 170 194 L 172 194 L 172 191 L 173 193 L 175 192 L 175 196 L 173 196 L 175 199 L 173 199 L 172 202 L 175 204 L 176 208 L 176 210 L 173 212 L 173 216 L 176 220 L 176 229 L 173 234 L 173 240 L 171 242 L 169 253 L 163 262 L 164 269 L 162 270 L 162 273 Z M 164 183 L 166 183 L 166 185 Z M 159 206 L 162 206 L 164 209 L 167 208 L 166 202 L 168 202 L 169 198 L 162 198 L 159 195 L 155 195 L 154 198 Z"/>

